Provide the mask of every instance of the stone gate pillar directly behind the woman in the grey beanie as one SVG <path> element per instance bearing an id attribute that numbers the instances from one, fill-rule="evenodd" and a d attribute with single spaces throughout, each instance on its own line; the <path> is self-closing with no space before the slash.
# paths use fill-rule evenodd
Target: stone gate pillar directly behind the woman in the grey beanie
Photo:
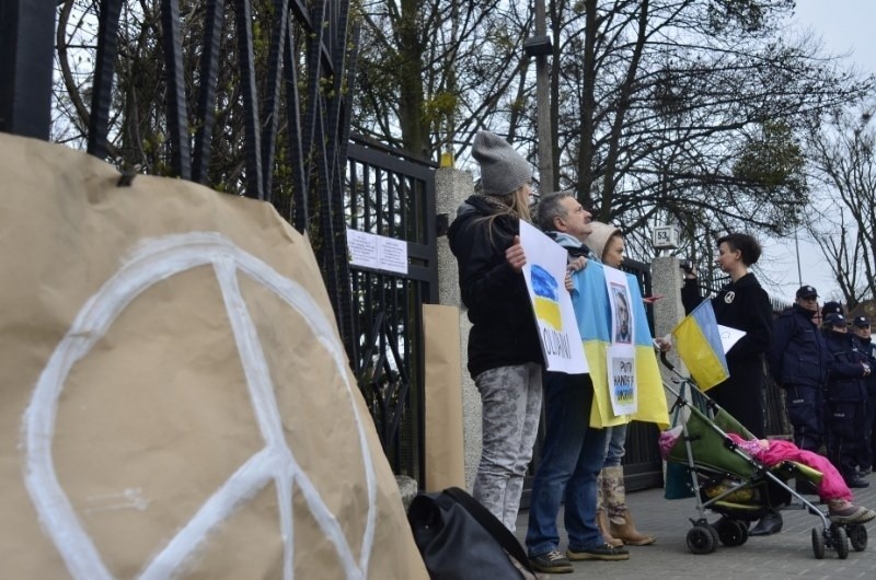
<path id="1" fill-rule="evenodd" d="M 440 169 L 435 172 L 435 206 L 439 222 L 449 225 L 457 216 L 457 208 L 474 193 L 474 181 L 465 171 Z M 438 302 L 458 306 L 460 325 L 460 352 L 462 359 L 462 424 L 465 445 L 465 484 L 469 489 L 481 460 L 481 395 L 465 368 L 469 361 L 469 330 L 472 325 L 462 305 L 459 291 L 457 258 L 450 252 L 447 234 L 438 237 Z"/>

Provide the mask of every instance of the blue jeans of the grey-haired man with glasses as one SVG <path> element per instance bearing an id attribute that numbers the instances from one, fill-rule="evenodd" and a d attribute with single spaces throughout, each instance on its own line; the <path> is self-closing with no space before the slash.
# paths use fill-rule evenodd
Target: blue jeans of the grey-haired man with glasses
<path id="1" fill-rule="evenodd" d="M 589 374 L 544 373 L 545 433 L 532 484 L 527 548 L 530 556 L 557 549 L 556 517 L 565 498 L 568 547 L 604 544 L 596 526 L 596 483 L 606 459 L 606 429 L 590 428 L 593 383 Z"/>

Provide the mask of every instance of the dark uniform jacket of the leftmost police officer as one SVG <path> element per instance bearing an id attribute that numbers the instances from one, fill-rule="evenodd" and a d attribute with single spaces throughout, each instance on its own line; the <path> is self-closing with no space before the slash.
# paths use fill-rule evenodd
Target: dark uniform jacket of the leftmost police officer
<path id="1" fill-rule="evenodd" d="M 831 355 L 818 326 L 815 311 L 794 304 L 773 322 L 772 348 L 766 360 L 770 373 L 781 386 L 827 386 Z"/>

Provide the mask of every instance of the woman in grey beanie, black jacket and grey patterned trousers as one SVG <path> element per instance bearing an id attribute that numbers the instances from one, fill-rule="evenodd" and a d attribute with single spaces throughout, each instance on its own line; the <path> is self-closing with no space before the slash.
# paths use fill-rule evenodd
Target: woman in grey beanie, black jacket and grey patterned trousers
<path id="1" fill-rule="evenodd" d="M 514 532 L 539 428 L 544 364 L 519 237 L 520 220 L 530 221 L 532 166 L 488 131 L 477 134 L 472 155 L 481 165 L 481 194 L 460 206 L 448 239 L 472 322 L 468 368 L 483 403 L 473 496 Z"/>

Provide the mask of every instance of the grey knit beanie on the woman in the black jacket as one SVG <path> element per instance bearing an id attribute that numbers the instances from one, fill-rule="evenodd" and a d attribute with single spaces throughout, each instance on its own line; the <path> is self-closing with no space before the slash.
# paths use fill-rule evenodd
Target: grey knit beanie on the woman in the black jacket
<path id="1" fill-rule="evenodd" d="M 504 196 L 532 179 L 532 166 L 508 141 L 489 131 L 477 131 L 472 155 L 481 164 L 484 195 Z"/>

